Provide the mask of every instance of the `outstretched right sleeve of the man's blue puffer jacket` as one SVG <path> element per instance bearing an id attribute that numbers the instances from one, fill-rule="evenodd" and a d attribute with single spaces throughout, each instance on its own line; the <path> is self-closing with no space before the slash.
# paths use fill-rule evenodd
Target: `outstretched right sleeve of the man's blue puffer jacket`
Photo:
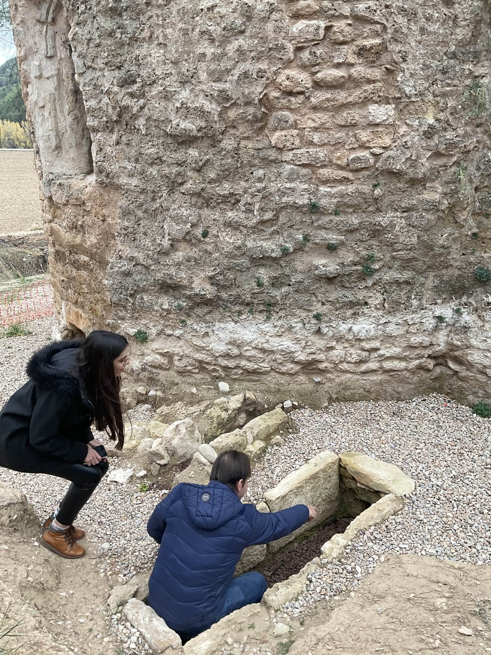
<path id="1" fill-rule="evenodd" d="M 258 512 L 254 505 L 247 505 L 245 515 L 251 523 L 247 546 L 268 544 L 270 541 L 293 533 L 308 519 L 306 505 L 294 505 L 281 512 Z"/>

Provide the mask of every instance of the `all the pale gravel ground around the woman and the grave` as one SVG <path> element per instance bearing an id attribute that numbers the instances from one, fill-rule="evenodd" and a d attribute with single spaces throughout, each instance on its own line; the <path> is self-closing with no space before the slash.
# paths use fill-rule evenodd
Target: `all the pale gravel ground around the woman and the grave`
<path id="1" fill-rule="evenodd" d="M 46 344 L 52 322 L 33 322 L 29 329 L 30 336 L 0 339 L 1 404 L 25 380 L 27 358 Z M 396 464 L 414 478 L 416 489 L 400 514 L 361 534 L 340 563 L 315 572 L 299 601 L 285 606 L 289 614 L 297 616 L 316 601 L 354 588 L 386 553 L 491 564 L 491 419 L 437 395 L 403 402 L 335 403 L 322 411 L 299 409 L 292 417 L 296 431 L 283 435 L 285 445 L 270 447 L 255 467 L 249 502 L 325 449 L 357 450 Z M 111 460 L 111 468 L 115 466 L 117 458 Z M 22 489 L 40 517 L 50 513 L 67 487 L 54 477 L 2 468 L 0 482 Z M 94 543 L 88 549 L 104 553 L 101 574 L 115 582 L 149 569 L 155 559 L 156 545 L 145 527 L 162 493 L 137 491 L 140 483 L 103 481 L 79 517 L 81 526 L 90 527 L 89 541 Z"/>

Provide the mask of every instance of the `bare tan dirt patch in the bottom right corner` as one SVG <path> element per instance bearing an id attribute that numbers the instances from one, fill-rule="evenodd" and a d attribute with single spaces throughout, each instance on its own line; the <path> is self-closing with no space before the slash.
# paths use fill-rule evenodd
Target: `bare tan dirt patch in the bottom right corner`
<path id="1" fill-rule="evenodd" d="M 306 622 L 289 655 L 484 654 L 490 599 L 490 567 L 390 555 L 329 618 Z"/>

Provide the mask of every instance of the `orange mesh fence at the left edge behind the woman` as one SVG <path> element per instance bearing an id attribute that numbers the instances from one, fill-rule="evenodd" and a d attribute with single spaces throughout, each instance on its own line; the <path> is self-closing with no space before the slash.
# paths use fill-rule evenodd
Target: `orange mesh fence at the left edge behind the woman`
<path id="1" fill-rule="evenodd" d="M 53 288 L 48 277 L 0 288 L 0 327 L 27 323 L 54 314 Z"/>

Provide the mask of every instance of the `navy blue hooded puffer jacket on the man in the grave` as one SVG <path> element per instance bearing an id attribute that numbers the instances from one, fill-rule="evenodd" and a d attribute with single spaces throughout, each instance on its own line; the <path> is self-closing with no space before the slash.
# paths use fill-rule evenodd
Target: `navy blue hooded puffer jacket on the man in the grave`
<path id="1" fill-rule="evenodd" d="M 227 485 L 180 484 L 156 506 L 147 530 L 159 544 L 149 605 L 176 632 L 208 629 L 246 546 L 267 544 L 308 519 L 308 507 L 261 513 Z"/>

